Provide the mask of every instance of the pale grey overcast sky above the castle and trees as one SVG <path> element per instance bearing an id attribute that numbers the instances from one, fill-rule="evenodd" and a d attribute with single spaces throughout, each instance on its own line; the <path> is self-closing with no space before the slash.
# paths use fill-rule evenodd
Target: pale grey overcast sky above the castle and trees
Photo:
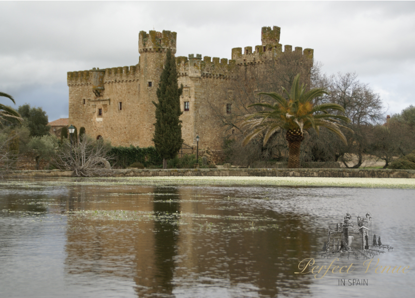
<path id="1" fill-rule="evenodd" d="M 66 72 L 137 64 L 138 33 L 153 28 L 177 32 L 177 56 L 230 59 L 276 25 L 281 44 L 313 48 L 328 75 L 356 72 L 388 114 L 415 104 L 414 1 L 0 1 L 0 11 L 0 91 L 49 121 L 68 117 Z"/>

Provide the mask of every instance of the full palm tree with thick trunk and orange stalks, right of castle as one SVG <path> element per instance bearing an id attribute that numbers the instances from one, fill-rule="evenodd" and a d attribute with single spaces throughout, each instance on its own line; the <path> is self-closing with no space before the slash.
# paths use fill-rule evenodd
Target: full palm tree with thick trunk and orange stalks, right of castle
<path id="1" fill-rule="evenodd" d="M 335 103 L 313 104 L 313 99 L 328 94 L 322 88 L 315 88 L 306 92 L 306 86 L 299 83 L 300 75 L 294 78 L 291 92 L 282 88 L 286 98 L 271 93 L 259 93 L 274 99 L 275 104 L 254 103 L 250 106 L 263 107 L 262 111 L 247 115 L 243 126 L 248 126 L 250 133 L 245 137 L 243 145 L 260 136 L 264 145 L 269 138 L 281 129 L 286 130 L 285 139 L 288 141 L 288 168 L 300 167 L 300 146 L 304 140 L 304 131 L 314 128 L 319 133 L 319 127 L 323 126 L 337 134 L 347 144 L 346 138 L 339 127 L 340 120 L 350 122 L 350 119 L 342 115 L 329 113 L 328 109 L 344 112 L 344 108 Z"/>

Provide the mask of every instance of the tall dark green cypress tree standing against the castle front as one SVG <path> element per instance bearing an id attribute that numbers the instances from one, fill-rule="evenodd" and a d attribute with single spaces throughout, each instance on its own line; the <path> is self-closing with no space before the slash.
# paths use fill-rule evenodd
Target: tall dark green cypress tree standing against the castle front
<path id="1" fill-rule="evenodd" d="M 159 87 L 157 88 L 157 99 L 153 101 L 156 106 L 156 129 L 153 135 L 154 146 L 163 158 L 163 169 L 167 168 L 167 159 L 174 158 L 179 152 L 182 139 L 182 121 L 179 120 L 180 96 L 183 93 L 183 85 L 179 88 L 177 83 L 176 58 L 169 49 Z"/>

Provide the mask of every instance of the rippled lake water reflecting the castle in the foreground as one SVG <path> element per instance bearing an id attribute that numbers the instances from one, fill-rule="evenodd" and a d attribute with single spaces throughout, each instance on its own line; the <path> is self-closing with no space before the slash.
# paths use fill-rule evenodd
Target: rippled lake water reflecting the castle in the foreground
<path id="1" fill-rule="evenodd" d="M 0 297 L 413 297 L 415 190 L 88 181 L 0 183 Z M 370 269 L 399 273 L 316 253 L 347 211 L 394 247 Z"/>

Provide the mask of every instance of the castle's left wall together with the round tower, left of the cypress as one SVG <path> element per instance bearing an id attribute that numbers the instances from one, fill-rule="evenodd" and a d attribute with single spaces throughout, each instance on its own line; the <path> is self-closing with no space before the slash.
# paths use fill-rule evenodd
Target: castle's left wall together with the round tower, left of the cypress
<path id="1" fill-rule="evenodd" d="M 140 31 L 139 63 L 68 72 L 69 122 L 113 146 L 153 145 L 156 90 L 168 49 L 176 53 L 176 32 Z"/>

